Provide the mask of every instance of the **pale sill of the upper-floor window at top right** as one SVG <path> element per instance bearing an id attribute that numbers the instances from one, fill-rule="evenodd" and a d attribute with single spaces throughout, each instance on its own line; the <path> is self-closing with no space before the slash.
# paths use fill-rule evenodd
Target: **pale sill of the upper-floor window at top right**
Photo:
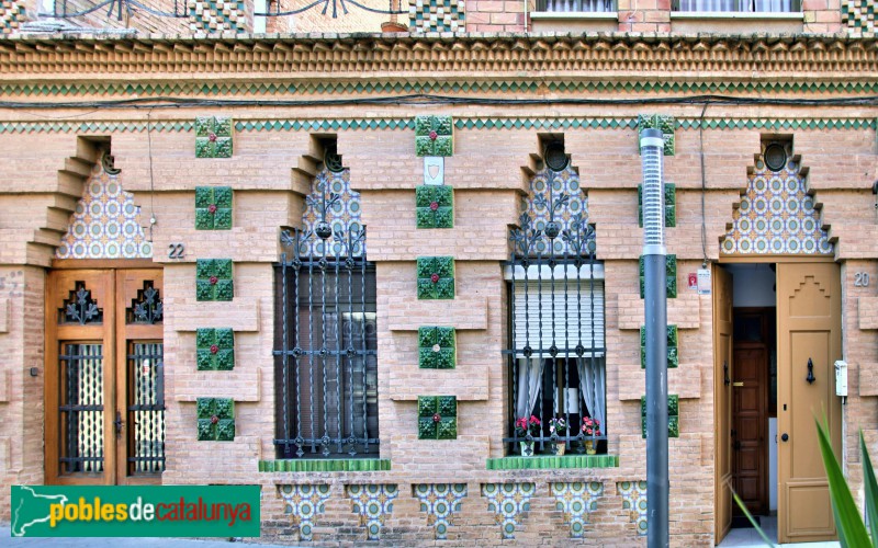
<path id="1" fill-rule="evenodd" d="M 801 33 L 802 12 L 672 11 L 675 33 Z"/>

